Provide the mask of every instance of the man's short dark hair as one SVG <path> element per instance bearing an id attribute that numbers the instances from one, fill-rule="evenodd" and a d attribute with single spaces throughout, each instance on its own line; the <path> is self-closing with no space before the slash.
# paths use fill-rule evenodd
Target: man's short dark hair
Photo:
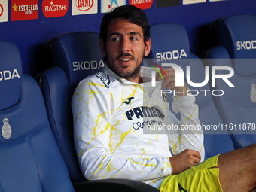
<path id="1" fill-rule="evenodd" d="M 150 26 L 148 24 L 148 18 L 145 14 L 145 11 L 142 11 L 140 8 L 136 8 L 133 5 L 123 5 L 117 8 L 114 8 L 111 12 L 108 12 L 102 18 L 102 24 L 100 26 L 99 38 L 102 39 L 103 43 L 106 44 L 108 38 L 108 26 L 113 19 L 125 19 L 129 20 L 130 23 L 136 24 L 142 27 L 144 43 L 150 38 Z"/>

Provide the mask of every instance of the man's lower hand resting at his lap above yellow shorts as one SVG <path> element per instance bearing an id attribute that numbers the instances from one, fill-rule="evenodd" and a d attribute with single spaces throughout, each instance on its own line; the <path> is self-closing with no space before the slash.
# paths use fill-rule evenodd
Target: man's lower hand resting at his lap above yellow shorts
<path id="1" fill-rule="evenodd" d="M 173 157 L 169 157 L 169 162 L 172 166 L 172 175 L 179 174 L 191 166 L 197 165 L 200 160 L 200 153 L 191 149 L 186 149 Z"/>

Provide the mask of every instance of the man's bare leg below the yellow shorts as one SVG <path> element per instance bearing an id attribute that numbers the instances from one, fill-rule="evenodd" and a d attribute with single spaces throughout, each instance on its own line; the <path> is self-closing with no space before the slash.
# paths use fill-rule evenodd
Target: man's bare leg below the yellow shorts
<path id="1" fill-rule="evenodd" d="M 221 154 L 218 167 L 224 192 L 255 191 L 256 144 Z"/>

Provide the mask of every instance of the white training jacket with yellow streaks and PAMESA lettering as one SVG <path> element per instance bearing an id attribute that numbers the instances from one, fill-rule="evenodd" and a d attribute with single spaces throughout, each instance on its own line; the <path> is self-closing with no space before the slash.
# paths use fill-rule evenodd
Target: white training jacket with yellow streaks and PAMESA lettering
<path id="1" fill-rule="evenodd" d="M 141 75 L 151 70 L 142 67 Z M 75 148 L 85 178 L 132 179 L 158 187 L 172 174 L 169 157 L 173 154 L 190 148 L 200 151 L 203 161 L 201 130 L 158 131 L 164 125 L 200 124 L 194 96 L 174 96 L 179 121 L 169 111 L 166 96 L 160 95 L 161 87 L 162 81 L 152 87 L 151 82 L 136 84 L 119 78 L 108 66 L 78 84 L 72 112 Z"/>

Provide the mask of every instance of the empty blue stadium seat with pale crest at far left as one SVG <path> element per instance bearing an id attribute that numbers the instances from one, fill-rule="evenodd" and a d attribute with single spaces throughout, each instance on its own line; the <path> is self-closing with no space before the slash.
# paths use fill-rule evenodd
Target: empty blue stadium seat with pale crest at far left
<path id="1" fill-rule="evenodd" d="M 0 110 L 3 131 L 0 135 L 0 191 L 74 191 L 50 130 L 41 90 L 32 77 L 22 75 L 16 45 L 0 41 L 2 46 L 6 49 L 0 52 L 1 58 L 8 53 L 12 58 L 1 60 L 0 66 L 10 71 L 17 69 L 20 84 L 0 81 L 1 88 L 13 90 L 8 94 L 15 98 L 11 106 Z M 16 79 L 9 81 L 17 82 Z M 0 99 L 5 102 L 2 92 Z"/>

